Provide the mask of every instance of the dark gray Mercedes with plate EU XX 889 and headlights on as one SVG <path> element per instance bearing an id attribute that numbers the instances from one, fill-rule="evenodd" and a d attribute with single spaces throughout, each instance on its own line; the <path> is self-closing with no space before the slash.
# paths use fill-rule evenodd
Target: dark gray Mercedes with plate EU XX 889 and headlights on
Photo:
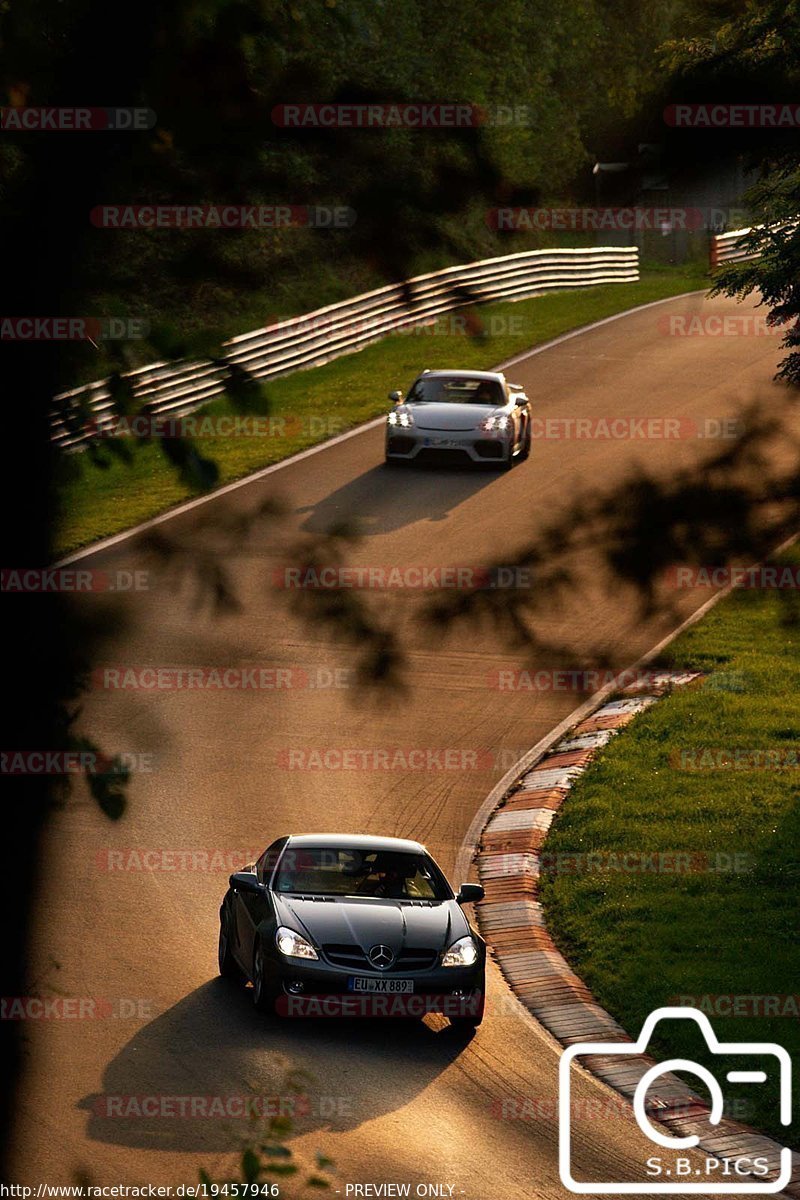
<path id="1" fill-rule="evenodd" d="M 279 838 L 230 876 L 219 973 L 258 1008 L 296 1016 L 483 1018 L 486 943 L 425 846 L 399 838 Z"/>

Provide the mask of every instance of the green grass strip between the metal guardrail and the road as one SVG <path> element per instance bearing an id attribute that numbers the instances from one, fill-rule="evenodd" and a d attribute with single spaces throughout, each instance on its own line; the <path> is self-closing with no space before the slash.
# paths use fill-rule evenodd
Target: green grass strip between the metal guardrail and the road
<path id="1" fill-rule="evenodd" d="M 638 283 L 487 305 L 481 310 L 485 325 L 498 332 L 485 338 L 458 331 L 393 335 L 359 354 L 269 383 L 263 404 L 271 419 L 266 436 L 204 438 L 197 448 L 216 462 L 218 482 L 224 484 L 386 413 L 386 394 L 407 388 L 423 367 L 491 367 L 566 330 L 704 282 L 691 270 L 654 270 Z M 212 416 L 233 413 L 225 397 L 203 409 Z M 64 456 L 56 553 L 119 533 L 197 494 L 178 478 L 158 444 L 128 438 L 125 446 L 130 461 L 104 450 L 104 467 L 85 454 Z"/>

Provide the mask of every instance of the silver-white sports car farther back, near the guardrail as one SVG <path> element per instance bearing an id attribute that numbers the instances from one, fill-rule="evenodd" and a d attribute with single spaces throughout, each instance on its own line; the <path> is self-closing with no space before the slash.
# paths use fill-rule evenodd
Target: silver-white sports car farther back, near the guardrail
<path id="1" fill-rule="evenodd" d="M 423 371 L 392 391 L 386 462 L 458 460 L 509 470 L 530 452 L 530 401 L 499 371 Z"/>

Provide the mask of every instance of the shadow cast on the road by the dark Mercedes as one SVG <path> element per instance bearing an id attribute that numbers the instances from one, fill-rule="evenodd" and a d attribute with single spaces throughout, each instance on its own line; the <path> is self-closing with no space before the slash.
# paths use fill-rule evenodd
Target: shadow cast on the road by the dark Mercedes
<path id="1" fill-rule="evenodd" d="M 468 1040 L 422 1021 L 277 1020 L 255 1012 L 249 990 L 213 979 L 142 1028 L 79 1108 L 92 1141 L 228 1152 L 278 1111 L 307 1133 L 401 1109 Z"/>

